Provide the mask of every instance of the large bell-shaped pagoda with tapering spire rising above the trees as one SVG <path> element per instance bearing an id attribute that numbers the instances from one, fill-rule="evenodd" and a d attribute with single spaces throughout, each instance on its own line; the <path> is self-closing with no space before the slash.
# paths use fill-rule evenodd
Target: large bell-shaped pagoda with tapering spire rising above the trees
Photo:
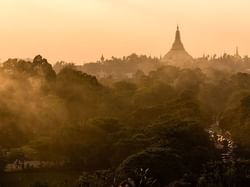
<path id="1" fill-rule="evenodd" d="M 175 41 L 170 51 L 162 58 L 161 62 L 165 65 L 179 67 L 190 67 L 193 65 L 193 57 L 185 50 L 182 42 L 179 26 L 175 34 Z"/>

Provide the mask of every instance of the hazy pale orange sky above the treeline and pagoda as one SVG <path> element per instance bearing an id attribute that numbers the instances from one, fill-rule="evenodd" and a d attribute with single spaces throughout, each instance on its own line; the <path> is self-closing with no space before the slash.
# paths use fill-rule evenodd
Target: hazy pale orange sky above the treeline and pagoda
<path id="1" fill-rule="evenodd" d="M 160 56 L 177 24 L 194 57 L 250 54 L 249 0 L 0 0 L 0 58 Z"/>

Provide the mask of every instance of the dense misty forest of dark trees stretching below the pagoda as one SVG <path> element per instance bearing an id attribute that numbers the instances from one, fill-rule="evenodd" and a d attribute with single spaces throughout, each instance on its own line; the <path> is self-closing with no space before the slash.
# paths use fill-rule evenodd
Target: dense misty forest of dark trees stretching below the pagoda
<path id="1" fill-rule="evenodd" d="M 136 54 L 83 66 L 53 67 L 40 55 L 2 63 L 0 186 L 10 186 L 11 164 L 79 171 L 61 186 L 91 186 L 93 176 L 95 186 L 249 186 L 250 59 L 194 63 Z"/>

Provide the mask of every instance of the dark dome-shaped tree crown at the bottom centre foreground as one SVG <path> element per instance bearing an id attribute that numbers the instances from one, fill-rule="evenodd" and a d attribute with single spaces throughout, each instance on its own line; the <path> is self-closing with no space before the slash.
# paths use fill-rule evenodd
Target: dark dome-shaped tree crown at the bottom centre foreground
<path id="1" fill-rule="evenodd" d="M 135 178 L 137 168 L 150 168 L 152 177 L 159 179 L 162 185 L 180 178 L 188 171 L 182 158 L 166 148 L 147 149 L 132 155 L 119 166 L 116 173 L 120 179 Z"/>

